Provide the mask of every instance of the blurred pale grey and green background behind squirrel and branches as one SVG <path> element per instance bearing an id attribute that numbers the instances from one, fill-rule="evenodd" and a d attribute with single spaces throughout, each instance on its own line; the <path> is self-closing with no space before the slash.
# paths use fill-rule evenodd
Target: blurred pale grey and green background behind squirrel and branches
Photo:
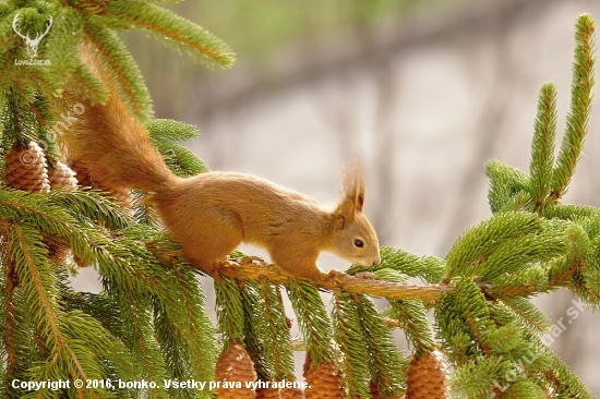
<path id="1" fill-rule="evenodd" d="M 143 35 L 123 37 L 156 117 L 197 125 L 202 136 L 189 145 L 212 169 L 334 204 L 343 165 L 358 160 L 380 242 L 440 257 L 491 216 L 485 160 L 528 170 L 544 82 L 557 86 L 564 130 L 573 23 L 589 12 L 600 24 L 598 0 L 194 0 L 172 9 L 228 43 L 233 68 L 209 71 Z M 600 206 L 598 102 L 590 119 L 564 202 Z M 321 266 L 348 265 L 324 255 Z M 555 322 L 573 299 L 536 301 Z M 585 311 L 552 343 L 597 395 L 598 327 L 600 315 Z"/>

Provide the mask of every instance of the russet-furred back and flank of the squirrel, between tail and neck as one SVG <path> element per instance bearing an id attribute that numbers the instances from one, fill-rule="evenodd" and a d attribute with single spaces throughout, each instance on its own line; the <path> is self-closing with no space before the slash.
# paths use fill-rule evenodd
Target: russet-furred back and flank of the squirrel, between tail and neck
<path id="1" fill-rule="evenodd" d="M 331 211 L 315 200 L 251 174 L 201 173 L 152 195 L 149 201 L 157 205 L 170 230 L 190 230 L 192 235 L 189 226 L 195 223 L 191 219 L 229 225 L 240 229 L 243 241 L 261 246 L 278 235 L 289 235 L 289 231 L 320 237 L 329 233 Z"/>

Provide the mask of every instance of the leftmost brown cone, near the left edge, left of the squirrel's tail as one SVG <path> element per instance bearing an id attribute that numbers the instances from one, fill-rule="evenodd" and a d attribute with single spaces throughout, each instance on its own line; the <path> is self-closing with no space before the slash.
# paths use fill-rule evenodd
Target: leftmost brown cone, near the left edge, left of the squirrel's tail
<path id="1" fill-rule="evenodd" d="M 32 193 L 50 190 L 46 156 L 37 143 L 29 143 L 27 148 L 11 147 L 4 156 L 4 182 Z"/>

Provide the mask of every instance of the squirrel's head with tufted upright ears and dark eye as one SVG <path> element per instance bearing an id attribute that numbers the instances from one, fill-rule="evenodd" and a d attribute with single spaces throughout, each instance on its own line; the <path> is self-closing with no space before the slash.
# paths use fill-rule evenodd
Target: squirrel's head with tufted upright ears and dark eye
<path id="1" fill-rule="evenodd" d="M 375 230 L 362 213 L 364 178 L 355 165 L 346 170 L 344 194 L 334 211 L 334 238 L 331 252 L 358 266 L 380 263 L 380 243 Z"/>

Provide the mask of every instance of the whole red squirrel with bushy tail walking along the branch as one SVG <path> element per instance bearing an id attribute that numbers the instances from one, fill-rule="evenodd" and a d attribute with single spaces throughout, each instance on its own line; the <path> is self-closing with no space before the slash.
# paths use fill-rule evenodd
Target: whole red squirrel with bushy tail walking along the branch
<path id="1" fill-rule="evenodd" d="M 82 52 L 84 62 L 101 76 L 93 56 Z M 211 171 L 178 178 L 115 85 L 105 81 L 110 94 L 104 105 L 93 105 L 73 93 L 65 93 L 59 101 L 85 107 L 62 133 L 69 157 L 112 188 L 147 193 L 147 202 L 197 269 L 214 274 L 241 242 L 266 249 L 281 270 L 317 283 L 331 282 L 338 273 L 325 274 L 317 267 L 322 251 L 356 265 L 380 263 L 376 233 L 362 213 L 360 168 L 347 169 L 344 193 L 334 209 L 251 174 Z"/>

